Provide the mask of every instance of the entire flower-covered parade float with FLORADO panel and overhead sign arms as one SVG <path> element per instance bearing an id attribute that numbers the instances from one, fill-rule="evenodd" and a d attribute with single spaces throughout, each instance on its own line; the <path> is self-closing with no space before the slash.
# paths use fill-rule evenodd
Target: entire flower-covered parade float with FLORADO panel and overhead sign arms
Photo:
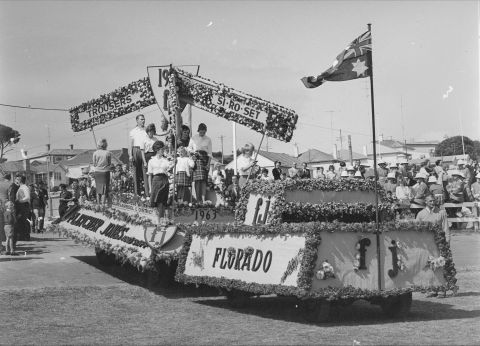
<path id="1" fill-rule="evenodd" d="M 292 138 L 297 115 L 290 109 L 172 66 L 150 67 L 149 76 L 72 109 L 74 130 L 163 100 L 176 135 L 192 105 L 262 140 Z M 163 224 L 139 196 L 117 196 L 109 206 L 72 208 L 53 227 L 93 245 L 101 263 L 130 263 L 165 278 L 176 270 L 178 282 L 219 288 L 234 306 L 252 296 L 295 297 L 315 321 L 358 299 L 404 316 L 412 292 L 456 290 L 442 229 L 397 219 L 375 180 L 250 180 L 241 194 L 235 210 L 173 203 Z"/>

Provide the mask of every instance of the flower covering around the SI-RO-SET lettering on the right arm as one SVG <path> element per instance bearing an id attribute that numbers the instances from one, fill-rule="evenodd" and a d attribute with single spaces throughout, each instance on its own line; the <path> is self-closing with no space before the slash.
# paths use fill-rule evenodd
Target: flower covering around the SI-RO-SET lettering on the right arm
<path id="1" fill-rule="evenodd" d="M 195 106 L 207 112 L 213 113 L 227 120 L 235 121 L 247 126 L 254 131 L 263 133 L 269 137 L 289 142 L 293 136 L 298 115 L 291 109 L 267 102 L 259 97 L 238 92 L 233 88 L 216 83 L 210 79 L 193 76 L 192 74 L 175 68 L 178 76 L 179 93 L 194 100 Z M 245 104 L 256 111 L 267 114 L 266 123 L 253 118 L 240 116 L 222 106 L 212 102 L 214 95 L 229 98 L 237 103 Z M 245 96 L 241 96 L 245 95 Z"/>

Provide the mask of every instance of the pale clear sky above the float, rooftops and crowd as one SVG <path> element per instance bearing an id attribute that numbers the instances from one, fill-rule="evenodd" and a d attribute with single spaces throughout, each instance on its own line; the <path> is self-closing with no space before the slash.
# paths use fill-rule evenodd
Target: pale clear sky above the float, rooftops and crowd
<path id="1" fill-rule="evenodd" d="M 0 103 L 70 109 L 147 76 L 149 65 L 200 65 L 200 75 L 295 110 L 290 143 L 262 149 L 292 155 L 334 144 L 362 153 L 372 142 L 370 80 L 300 79 L 328 69 L 372 24 L 376 133 L 384 138 L 480 139 L 479 3 L 476 1 L 1 1 Z M 159 124 L 157 106 L 144 109 Z M 135 115 L 95 129 L 110 149 L 128 145 Z M 213 150 L 232 152 L 232 124 L 193 109 Z M 93 149 L 65 111 L 0 106 L 0 123 L 21 133 L 6 155 Z M 237 147 L 261 135 L 237 127 Z M 340 130 L 342 141 L 340 141 Z"/>

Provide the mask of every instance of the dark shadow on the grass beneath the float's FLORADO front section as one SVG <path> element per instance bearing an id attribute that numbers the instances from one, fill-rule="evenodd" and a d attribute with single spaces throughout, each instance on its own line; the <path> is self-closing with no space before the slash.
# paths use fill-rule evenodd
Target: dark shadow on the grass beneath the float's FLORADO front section
<path id="1" fill-rule="evenodd" d="M 232 308 L 227 299 L 196 300 L 196 303 L 274 320 L 312 324 L 312 322 L 306 321 L 296 298 L 254 297 L 250 298 L 247 305 L 242 309 Z M 461 310 L 453 308 L 451 304 L 414 299 L 410 313 L 401 321 L 435 321 L 478 317 L 480 317 L 480 310 Z M 399 320 L 387 318 L 379 306 L 359 300 L 348 306 L 333 305 L 330 309 L 328 322 L 313 324 L 325 327 L 338 327 L 339 325 L 385 324 Z"/>

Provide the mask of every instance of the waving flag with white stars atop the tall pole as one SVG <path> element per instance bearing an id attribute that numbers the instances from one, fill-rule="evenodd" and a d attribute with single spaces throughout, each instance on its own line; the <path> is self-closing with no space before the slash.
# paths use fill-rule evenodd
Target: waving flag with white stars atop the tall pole
<path id="1" fill-rule="evenodd" d="M 368 52 L 372 51 L 370 31 L 352 41 L 335 59 L 328 70 L 314 77 L 303 77 L 305 87 L 316 88 L 325 81 L 344 81 L 369 77 L 372 69 L 369 66 Z"/>

